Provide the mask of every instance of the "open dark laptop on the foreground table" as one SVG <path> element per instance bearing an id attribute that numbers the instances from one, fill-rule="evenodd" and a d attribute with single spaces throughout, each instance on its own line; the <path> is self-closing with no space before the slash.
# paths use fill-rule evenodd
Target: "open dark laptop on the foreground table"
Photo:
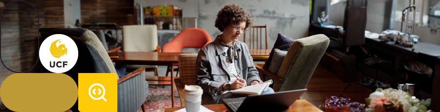
<path id="1" fill-rule="evenodd" d="M 233 112 L 278 112 L 289 108 L 307 89 L 226 98 L 223 101 Z"/>

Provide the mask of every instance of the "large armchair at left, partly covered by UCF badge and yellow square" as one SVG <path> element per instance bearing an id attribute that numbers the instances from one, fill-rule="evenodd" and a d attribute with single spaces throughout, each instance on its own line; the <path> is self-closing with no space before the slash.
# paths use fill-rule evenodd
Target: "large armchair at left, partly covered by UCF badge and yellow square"
<path id="1" fill-rule="evenodd" d="M 64 74 L 69 75 L 78 85 L 78 73 L 116 73 L 110 56 L 102 42 L 90 30 L 73 28 L 40 28 L 43 39 L 63 34 L 71 37 L 78 47 L 78 60 L 72 69 Z M 134 112 L 139 109 L 148 95 L 148 82 L 145 81 L 145 68 L 119 78 L 118 81 L 118 112 Z M 117 75 L 115 75 L 117 76 Z M 78 111 L 78 101 L 70 110 Z M 145 112 L 145 109 L 143 109 Z"/>

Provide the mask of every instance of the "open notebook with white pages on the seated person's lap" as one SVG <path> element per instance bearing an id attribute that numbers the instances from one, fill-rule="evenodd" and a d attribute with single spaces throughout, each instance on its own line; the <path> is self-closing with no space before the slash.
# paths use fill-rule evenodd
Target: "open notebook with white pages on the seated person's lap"
<path id="1" fill-rule="evenodd" d="M 239 93 L 239 94 L 258 94 L 260 95 L 261 92 L 266 91 L 270 84 L 272 84 L 272 80 L 267 80 L 261 84 L 246 86 L 237 90 L 233 90 L 232 93 Z"/>

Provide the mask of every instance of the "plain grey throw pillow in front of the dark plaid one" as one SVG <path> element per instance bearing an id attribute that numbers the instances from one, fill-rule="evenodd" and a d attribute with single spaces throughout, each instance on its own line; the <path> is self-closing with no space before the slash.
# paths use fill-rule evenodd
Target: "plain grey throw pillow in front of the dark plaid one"
<path id="1" fill-rule="evenodd" d="M 279 49 L 274 50 L 272 63 L 270 64 L 269 71 L 273 74 L 277 74 L 278 70 L 283 63 L 284 57 L 286 56 L 287 51 L 281 51 Z"/>

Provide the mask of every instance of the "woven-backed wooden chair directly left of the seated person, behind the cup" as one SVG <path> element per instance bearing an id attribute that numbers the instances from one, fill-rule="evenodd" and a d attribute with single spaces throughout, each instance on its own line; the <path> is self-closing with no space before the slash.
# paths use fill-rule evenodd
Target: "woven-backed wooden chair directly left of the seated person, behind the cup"
<path id="1" fill-rule="evenodd" d="M 196 85 L 196 59 L 197 54 L 179 55 L 180 78 L 175 78 L 174 82 L 176 83 L 182 107 L 185 107 L 185 96 L 183 94 L 185 85 Z"/>

